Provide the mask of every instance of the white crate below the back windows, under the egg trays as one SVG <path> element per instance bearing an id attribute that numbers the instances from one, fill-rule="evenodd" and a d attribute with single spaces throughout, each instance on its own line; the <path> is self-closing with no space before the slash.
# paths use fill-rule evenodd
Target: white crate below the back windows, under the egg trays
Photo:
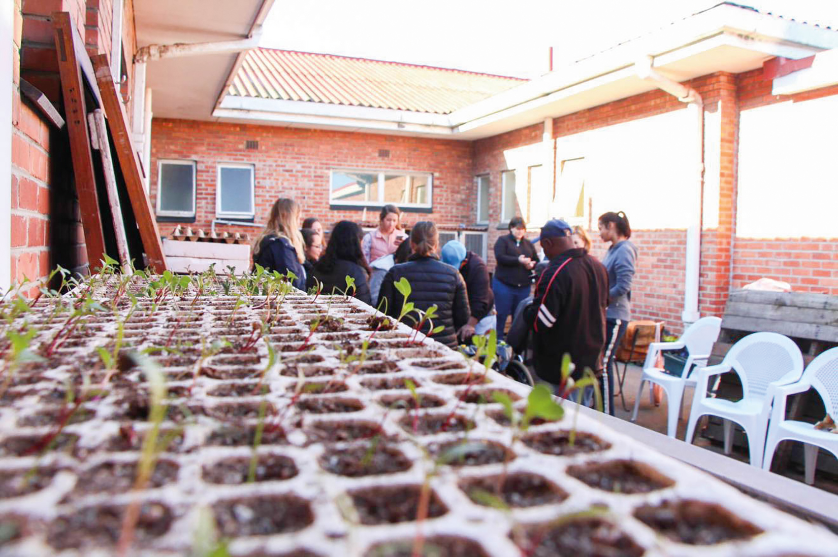
<path id="1" fill-rule="evenodd" d="M 247 244 L 223 244 L 220 242 L 190 242 L 186 240 L 163 239 L 163 254 L 168 268 L 178 273 L 200 273 L 215 263 L 215 272 L 227 274 L 227 267 L 235 267 L 235 273 L 245 273 L 251 268 L 251 246 Z"/>

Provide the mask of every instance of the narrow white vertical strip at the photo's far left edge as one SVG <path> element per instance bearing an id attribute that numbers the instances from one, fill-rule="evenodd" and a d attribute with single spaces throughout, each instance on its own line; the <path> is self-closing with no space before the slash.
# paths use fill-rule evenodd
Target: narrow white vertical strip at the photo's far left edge
<path id="1" fill-rule="evenodd" d="M 13 10 L 11 2 L 0 3 L 0 292 L 12 282 L 12 76 Z M 3 46 L 5 44 L 6 46 Z M 3 132 L 3 130 L 6 130 Z"/>

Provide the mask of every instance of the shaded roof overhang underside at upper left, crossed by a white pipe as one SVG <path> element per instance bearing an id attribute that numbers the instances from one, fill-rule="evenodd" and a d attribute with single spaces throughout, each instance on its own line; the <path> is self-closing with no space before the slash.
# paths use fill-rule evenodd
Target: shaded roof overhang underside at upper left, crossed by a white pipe
<path id="1" fill-rule="evenodd" d="M 137 48 L 245 39 L 261 25 L 274 0 L 142 0 L 134 3 Z M 239 54 L 201 54 L 147 62 L 152 111 L 163 118 L 210 120 L 235 72 Z"/>

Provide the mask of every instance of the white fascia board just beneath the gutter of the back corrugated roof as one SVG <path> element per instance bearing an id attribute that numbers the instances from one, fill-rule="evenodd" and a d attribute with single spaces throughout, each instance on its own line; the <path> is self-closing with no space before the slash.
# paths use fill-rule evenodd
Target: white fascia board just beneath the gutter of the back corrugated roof
<path id="1" fill-rule="evenodd" d="M 361 120 L 339 116 L 315 116 L 277 111 L 250 111 L 234 108 L 216 108 L 212 116 L 236 121 L 255 121 L 256 123 L 277 123 L 302 126 L 328 126 L 328 129 L 345 129 L 348 132 L 399 133 L 417 136 L 453 137 L 451 126 L 431 126 L 411 124 L 401 121 Z"/>

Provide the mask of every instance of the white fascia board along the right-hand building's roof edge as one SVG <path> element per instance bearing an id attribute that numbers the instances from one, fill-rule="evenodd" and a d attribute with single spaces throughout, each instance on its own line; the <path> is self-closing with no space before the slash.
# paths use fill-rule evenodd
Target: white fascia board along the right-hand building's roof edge
<path id="1" fill-rule="evenodd" d="M 680 49 L 698 52 L 712 48 L 716 45 L 705 41 L 719 35 L 730 35 L 728 40 L 734 41 L 736 46 L 754 49 L 767 56 L 784 56 L 785 58 L 803 58 L 820 50 L 838 46 L 838 32 L 831 29 L 775 18 L 735 6 L 721 5 L 505 90 L 484 101 L 465 106 L 449 116 L 454 126 L 462 127 L 466 122 L 478 120 L 539 97 L 551 95 L 557 90 L 622 70 L 633 65 L 641 55 L 651 54 L 655 58 L 674 55 L 680 58 L 676 54 L 676 51 Z M 655 65 L 660 65 L 657 60 Z"/>

